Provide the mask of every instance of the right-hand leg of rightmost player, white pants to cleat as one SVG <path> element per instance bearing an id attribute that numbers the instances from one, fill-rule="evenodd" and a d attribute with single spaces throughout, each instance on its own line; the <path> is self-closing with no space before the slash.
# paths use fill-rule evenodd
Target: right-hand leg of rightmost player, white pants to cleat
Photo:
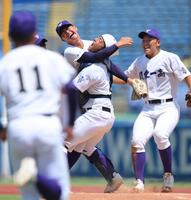
<path id="1" fill-rule="evenodd" d="M 173 116 L 173 118 L 171 116 Z M 178 120 L 179 108 L 174 107 L 172 104 L 172 106 L 165 108 L 165 112 L 162 112 L 159 115 L 154 129 L 153 136 L 157 144 L 164 168 L 164 183 L 162 187 L 163 192 L 170 192 L 174 184 L 174 177 L 172 175 L 172 149 L 169 137 L 176 127 Z"/>

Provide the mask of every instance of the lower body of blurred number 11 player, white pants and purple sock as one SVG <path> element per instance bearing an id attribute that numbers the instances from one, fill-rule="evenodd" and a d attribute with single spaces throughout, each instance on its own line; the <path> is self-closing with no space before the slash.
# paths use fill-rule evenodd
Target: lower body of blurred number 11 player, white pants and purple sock
<path id="1" fill-rule="evenodd" d="M 26 129 L 23 124 L 26 125 Z M 31 124 L 33 128 L 28 129 Z M 37 200 L 40 196 L 47 200 L 68 199 L 70 191 L 68 162 L 62 152 L 59 119 L 56 116 L 36 116 L 13 123 L 9 129 L 15 129 L 18 126 L 19 135 L 13 137 L 13 143 L 11 143 L 14 147 L 15 158 L 33 157 L 36 161 L 21 163 L 20 169 L 18 162 L 14 163 L 14 168 L 19 169 L 16 180 L 24 178 L 21 182 L 18 181 L 19 184 L 22 183 L 20 187 L 23 199 Z M 15 140 L 18 140 L 18 143 Z M 35 167 L 37 172 L 33 173 L 35 170 L 31 169 Z"/>

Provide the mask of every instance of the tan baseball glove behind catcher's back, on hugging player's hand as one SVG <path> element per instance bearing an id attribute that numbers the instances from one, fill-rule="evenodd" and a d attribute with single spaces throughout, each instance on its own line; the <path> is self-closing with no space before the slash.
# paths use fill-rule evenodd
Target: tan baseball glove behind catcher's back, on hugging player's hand
<path id="1" fill-rule="evenodd" d="M 131 95 L 131 100 L 138 100 L 145 98 L 148 95 L 147 85 L 143 80 L 132 79 L 133 92 Z"/>

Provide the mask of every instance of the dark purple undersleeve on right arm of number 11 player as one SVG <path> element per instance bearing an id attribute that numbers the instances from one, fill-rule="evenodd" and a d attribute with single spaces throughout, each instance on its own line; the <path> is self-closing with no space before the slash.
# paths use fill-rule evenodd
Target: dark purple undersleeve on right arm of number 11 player
<path id="1" fill-rule="evenodd" d="M 70 81 L 65 86 L 67 95 L 68 95 L 68 106 L 69 106 L 69 125 L 73 126 L 75 117 L 76 117 L 76 110 L 77 110 L 77 102 L 78 102 L 78 89 L 75 87 L 74 83 Z"/>

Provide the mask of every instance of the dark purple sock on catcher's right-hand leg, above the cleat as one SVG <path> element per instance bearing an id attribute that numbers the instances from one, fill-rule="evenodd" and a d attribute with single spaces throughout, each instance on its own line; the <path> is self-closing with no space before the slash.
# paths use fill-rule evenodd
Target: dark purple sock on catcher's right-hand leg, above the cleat
<path id="1" fill-rule="evenodd" d="M 100 149 L 97 148 L 91 156 L 86 156 L 86 158 L 98 169 L 108 183 L 112 183 L 115 172 L 113 164 Z"/>

